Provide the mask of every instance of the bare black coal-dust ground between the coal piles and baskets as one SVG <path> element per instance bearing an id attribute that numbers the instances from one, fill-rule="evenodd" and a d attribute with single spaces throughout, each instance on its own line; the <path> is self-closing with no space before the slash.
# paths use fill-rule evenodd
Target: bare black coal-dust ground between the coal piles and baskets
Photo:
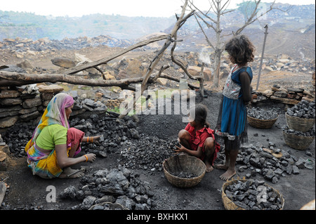
<path id="1" fill-rule="evenodd" d="M 218 109 L 221 100 L 220 93 L 207 93 L 207 98 L 199 98 L 198 103 L 206 105 L 209 109 L 208 121 L 211 129 L 215 128 L 218 117 Z M 284 105 L 275 105 L 284 107 Z M 284 111 L 284 108 L 283 108 Z M 285 113 L 285 112 L 284 112 Z M 269 142 L 275 143 L 275 147 L 285 150 L 294 157 L 312 159 L 315 161 L 315 140 L 306 150 L 294 150 L 284 143 L 281 127 L 286 124 L 285 116 L 279 115 L 277 122 L 271 129 L 255 129 L 248 127 L 249 144 L 260 143 L 263 146 Z M 184 129 L 186 123 L 182 122 L 180 115 L 139 115 L 138 127 L 143 133 L 158 136 L 164 140 L 175 140 L 178 131 Z M 306 152 L 310 154 L 306 154 Z M 110 153 L 107 157 L 96 159 L 93 164 L 83 164 L 88 169 L 87 174 L 99 169 L 117 168 L 119 154 Z M 80 164 L 81 166 L 82 164 Z M 78 165 L 79 166 L 79 165 Z M 76 168 L 76 166 L 74 166 Z M 219 176 L 223 170 L 214 169 L 211 173 L 206 173 L 202 181 L 195 187 L 181 189 L 171 185 L 164 177 L 163 171 L 145 171 L 143 169 L 130 169 L 133 173 L 138 173 L 140 179 L 150 183 L 154 192 L 156 202 L 155 210 L 225 210 L 221 199 L 220 189 L 224 183 Z M 237 171 L 237 176 L 245 176 L 246 172 Z M 33 176 L 27 167 L 26 158 L 11 157 L 8 171 L 1 173 L 2 178 L 7 178 L 8 191 L 4 197 L 1 209 L 10 208 L 16 210 L 39 209 L 39 210 L 65 210 L 79 204 L 77 200 L 61 199 L 57 197 L 56 202 L 47 202 L 49 186 L 53 185 L 57 195 L 66 187 L 79 186 L 80 179 L 41 179 Z M 264 180 L 263 176 L 257 175 L 258 180 Z M 268 185 L 279 190 L 284 197 L 284 210 L 298 210 L 304 204 L 315 199 L 315 167 L 313 169 L 300 169 L 299 174 L 282 176 L 277 183 L 266 181 Z M 48 187 L 48 188 L 47 188 Z"/>

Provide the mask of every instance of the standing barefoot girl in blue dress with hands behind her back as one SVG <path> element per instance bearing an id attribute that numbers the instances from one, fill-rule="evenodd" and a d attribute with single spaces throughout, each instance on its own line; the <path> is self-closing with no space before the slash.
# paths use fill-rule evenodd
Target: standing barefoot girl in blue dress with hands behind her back
<path id="1" fill-rule="evenodd" d="M 222 180 L 228 180 L 235 175 L 240 144 L 247 140 L 246 105 L 252 99 L 252 70 L 248 62 L 254 61 L 255 47 L 246 36 L 241 35 L 230 39 L 225 45 L 225 51 L 235 65 L 223 89 L 223 100 L 215 129 L 216 140 L 223 137 L 225 145 L 225 164 L 216 165 L 216 168 L 226 170 L 220 176 Z"/>

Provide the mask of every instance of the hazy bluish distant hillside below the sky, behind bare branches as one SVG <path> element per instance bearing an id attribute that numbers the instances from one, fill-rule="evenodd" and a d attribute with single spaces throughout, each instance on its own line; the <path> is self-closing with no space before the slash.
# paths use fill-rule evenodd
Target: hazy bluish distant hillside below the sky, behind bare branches
<path id="1" fill-rule="evenodd" d="M 270 4 L 262 4 L 265 8 Z M 277 25 L 277 29 L 304 32 L 312 29 L 315 24 L 315 4 L 306 6 L 291 6 L 289 4 L 275 4 L 282 11 L 270 11 L 261 24 L 251 25 L 251 29 L 262 29 L 263 24 L 270 27 Z M 225 14 L 221 21 L 224 32 L 230 32 L 244 22 L 243 12 L 239 9 Z M 214 16 L 209 13 L 209 16 Z M 92 14 L 81 17 L 52 17 L 35 15 L 34 13 L 18 13 L 0 11 L 0 41 L 5 38 L 15 39 L 48 39 L 62 40 L 77 37 L 98 37 L 106 35 L 116 39 L 136 40 L 148 34 L 169 33 L 176 22 L 175 16 L 170 18 L 126 17 L 122 15 Z M 315 27 L 315 25 L 314 25 Z M 314 29 L 315 30 L 315 29 Z M 259 30 L 260 31 L 260 30 Z M 210 31 L 211 32 L 211 31 Z M 254 32 L 258 32 L 255 30 Z M 179 30 L 180 37 L 186 37 L 189 44 L 196 44 L 203 38 L 195 18 L 191 17 Z M 213 34 L 210 34 L 210 37 Z M 196 38 L 198 37 L 198 38 Z"/>

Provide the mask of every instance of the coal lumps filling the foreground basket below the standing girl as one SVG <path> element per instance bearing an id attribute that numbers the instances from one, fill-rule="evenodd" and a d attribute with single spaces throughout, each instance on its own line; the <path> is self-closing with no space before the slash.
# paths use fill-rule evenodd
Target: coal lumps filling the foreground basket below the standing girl
<path id="1" fill-rule="evenodd" d="M 272 187 L 264 181 L 237 180 L 225 188 L 226 196 L 237 206 L 246 210 L 279 210 L 282 209 L 282 199 Z"/>

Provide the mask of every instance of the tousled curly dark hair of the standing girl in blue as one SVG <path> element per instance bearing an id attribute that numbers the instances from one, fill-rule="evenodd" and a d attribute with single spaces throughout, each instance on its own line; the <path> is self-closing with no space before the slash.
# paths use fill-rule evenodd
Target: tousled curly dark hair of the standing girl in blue
<path id="1" fill-rule="evenodd" d="M 256 48 L 248 37 L 240 35 L 232 37 L 225 45 L 225 51 L 235 60 L 237 64 L 246 64 L 246 62 L 254 61 L 254 52 Z"/>

